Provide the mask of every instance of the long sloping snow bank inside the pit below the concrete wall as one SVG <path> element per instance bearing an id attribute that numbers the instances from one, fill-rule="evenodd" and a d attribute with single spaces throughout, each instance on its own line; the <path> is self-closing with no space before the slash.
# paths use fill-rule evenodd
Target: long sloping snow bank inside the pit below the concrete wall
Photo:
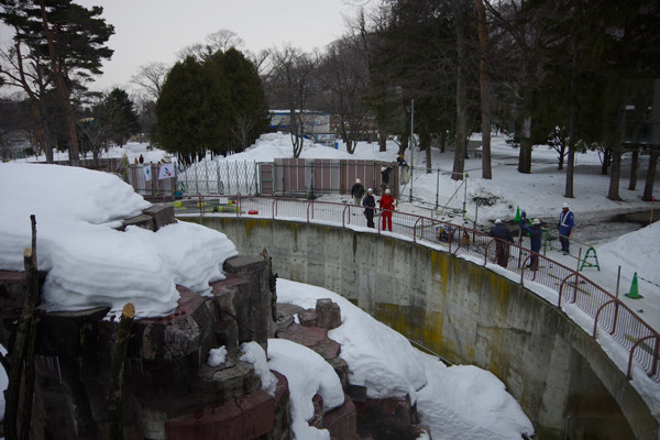
<path id="1" fill-rule="evenodd" d="M 520 405 L 492 373 L 470 365 L 446 366 L 340 295 L 277 279 L 279 302 L 314 308 L 319 298 L 330 298 L 341 309 L 342 323 L 328 337 L 341 344 L 349 382 L 366 386 L 373 398 L 409 394 L 433 439 L 504 440 L 534 432 Z"/>

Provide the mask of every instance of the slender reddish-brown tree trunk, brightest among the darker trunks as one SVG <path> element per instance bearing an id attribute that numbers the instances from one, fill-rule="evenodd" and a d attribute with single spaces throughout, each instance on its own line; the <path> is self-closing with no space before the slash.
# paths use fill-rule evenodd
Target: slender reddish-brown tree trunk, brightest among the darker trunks
<path id="1" fill-rule="evenodd" d="M 488 29 L 486 26 L 486 9 L 483 0 L 475 0 L 476 15 L 479 18 L 479 84 L 481 91 L 481 111 L 482 111 L 482 177 L 493 178 L 491 169 L 491 77 L 488 76 L 487 53 L 488 53 Z"/>

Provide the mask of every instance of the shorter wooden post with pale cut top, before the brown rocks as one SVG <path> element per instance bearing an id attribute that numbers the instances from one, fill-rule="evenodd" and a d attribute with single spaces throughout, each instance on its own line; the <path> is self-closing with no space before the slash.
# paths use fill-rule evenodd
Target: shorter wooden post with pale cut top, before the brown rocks
<path id="1" fill-rule="evenodd" d="M 127 359 L 127 351 L 131 340 L 131 327 L 135 317 L 135 307 L 128 302 L 122 311 L 119 324 L 117 327 L 117 339 L 114 349 L 112 350 L 112 361 L 110 363 L 110 386 L 108 388 L 108 419 L 110 438 L 120 440 L 123 439 L 122 431 L 122 384 L 123 369 Z"/>

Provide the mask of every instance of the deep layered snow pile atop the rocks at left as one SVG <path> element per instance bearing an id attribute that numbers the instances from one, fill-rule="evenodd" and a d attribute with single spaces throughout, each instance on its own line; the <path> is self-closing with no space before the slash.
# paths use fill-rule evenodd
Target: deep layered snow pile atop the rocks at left
<path id="1" fill-rule="evenodd" d="M 205 294 L 223 279 L 223 262 L 238 254 L 220 232 L 177 222 L 151 232 L 114 228 L 151 206 L 119 177 L 57 165 L 1 164 L 11 188 L 0 210 L 0 270 L 22 271 L 36 217 L 37 261 L 48 271 L 42 307 L 76 310 L 125 302 L 136 317 L 166 316 L 179 298 L 175 285 Z"/>

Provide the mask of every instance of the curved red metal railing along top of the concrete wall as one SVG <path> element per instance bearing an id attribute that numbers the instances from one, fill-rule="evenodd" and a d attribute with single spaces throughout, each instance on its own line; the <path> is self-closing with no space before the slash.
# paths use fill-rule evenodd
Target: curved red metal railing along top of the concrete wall
<path id="1" fill-rule="evenodd" d="M 342 228 L 365 227 L 364 207 L 305 199 L 238 196 L 198 196 L 172 202 L 177 216 L 230 215 L 273 220 L 294 220 L 338 224 Z M 375 232 L 383 233 L 383 222 L 375 210 Z M 654 382 L 660 382 L 658 365 L 660 334 L 614 295 L 581 273 L 544 255 L 463 226 L 407 212 L 392 212 L 392 233 L 415 243 L 444 249 L 454 255 L 483 258 L 501 264 L 520 275 L 520 285 L 537 283 L 558 293 L 557 307 L 571 304 L 594 320 L 592 337 L 606 332 L 628 355 L 627 377 L 632 378 L 632 360 Z M 505 261 L 498 258 L 497 243 L 506 249 Z"/>

